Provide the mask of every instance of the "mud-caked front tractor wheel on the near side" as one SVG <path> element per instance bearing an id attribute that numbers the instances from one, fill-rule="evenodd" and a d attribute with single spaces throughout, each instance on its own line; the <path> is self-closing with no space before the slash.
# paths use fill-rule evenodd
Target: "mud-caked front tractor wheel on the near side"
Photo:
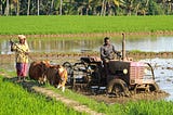
<path id="1" fill-rule="evenodd" d="M 109 94 L 115 94 L 116 97 L 128 97 L 129 89 L 127 84 L 121 79 L 112 79 L 108 84 L 107 92 Z"/>

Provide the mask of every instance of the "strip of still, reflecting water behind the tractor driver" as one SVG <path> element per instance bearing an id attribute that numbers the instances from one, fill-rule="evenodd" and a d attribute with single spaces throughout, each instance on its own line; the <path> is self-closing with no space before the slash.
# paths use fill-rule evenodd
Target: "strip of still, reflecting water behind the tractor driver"
<path id="1" fill-rule="evenodd" d="M 121 38 L 111 38 L 117 50 L 121 50 Z M 141 51 L 173 51 L 173 37 L 131 37 L 127 38 L 127 50 Z M 32 52 L 80 52 L 81 50 L 99 51 L 103 38 L 28 38 L 28 44 Z M 10 53 L 8 39 L 0 40 L 0 53 Z"/>

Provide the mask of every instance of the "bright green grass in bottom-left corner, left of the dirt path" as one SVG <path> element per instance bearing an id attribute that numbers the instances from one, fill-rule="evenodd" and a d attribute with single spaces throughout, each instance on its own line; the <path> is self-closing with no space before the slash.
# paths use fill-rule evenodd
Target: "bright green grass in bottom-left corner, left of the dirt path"
<path id="1" fill-rule="evenodd" d="M 28 93 L 0 76 L 0 115 L 81 115 L 62 102 Z M 84 113 L 83 113 L 84 114 Z"/>

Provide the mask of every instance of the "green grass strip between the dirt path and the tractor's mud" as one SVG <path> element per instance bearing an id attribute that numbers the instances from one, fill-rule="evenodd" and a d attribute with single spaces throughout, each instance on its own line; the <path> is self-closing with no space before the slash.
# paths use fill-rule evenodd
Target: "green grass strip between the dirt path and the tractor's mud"
<path id="1" fill-rule="evenodd" d="M 54 89 L 56 90 L 56 89 Z M 137 102 L 127 102 L 124 104 L 106 104 L 104 102 L 96 102 L 95 100 L 85 95 L 75 93 L 67 90 L 65 93 L 56 90 L 56 92 L 76 100 L 84 105 L 88 105 L 94 111 L 105 113 L 106 115 L 171 115 L 173 114 L 172 101 L 147 101 L 142 100 Z"/>

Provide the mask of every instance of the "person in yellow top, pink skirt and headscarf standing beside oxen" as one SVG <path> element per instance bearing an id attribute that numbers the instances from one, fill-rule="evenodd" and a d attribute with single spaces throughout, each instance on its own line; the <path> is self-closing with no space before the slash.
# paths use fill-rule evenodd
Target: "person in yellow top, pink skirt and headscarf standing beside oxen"
<path id="1" fill-rule="evenodd" d="M 17 81 L 25 81 L 27 76 L 28 68 L 28 52 L 29 48 L 24 35 L 18 35 L 18 43 L 15 43 L 10 40 L 11 51 L 15 52 L 15 62 L 16 62 L 16 74 L 18 77 Z"/>

